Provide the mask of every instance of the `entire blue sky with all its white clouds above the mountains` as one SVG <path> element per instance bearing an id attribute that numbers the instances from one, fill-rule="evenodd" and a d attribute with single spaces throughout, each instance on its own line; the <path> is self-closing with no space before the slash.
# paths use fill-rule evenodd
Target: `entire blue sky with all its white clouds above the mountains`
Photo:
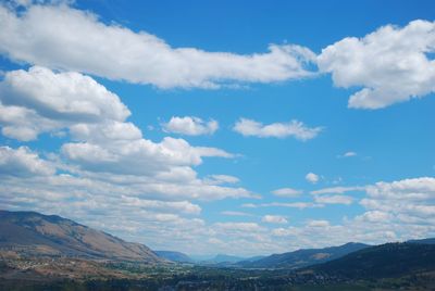
<path id="1" fill-rule="evenodd" d="M 435 236 L 433 1 L 1 1 L 0 208 L 153 250 Z"/>

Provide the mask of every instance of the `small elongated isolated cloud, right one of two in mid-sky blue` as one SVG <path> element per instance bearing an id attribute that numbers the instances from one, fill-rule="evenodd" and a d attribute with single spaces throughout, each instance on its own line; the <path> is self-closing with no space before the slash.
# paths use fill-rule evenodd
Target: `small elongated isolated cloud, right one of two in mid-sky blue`
<path id="1" fill-rule="evenodd" d="M 286 138 L 295 137 L 299 140 L 309 140 L 315 138 L 322 130 L 322 127 L 307 127 L 303 123 L 291 121 L 289 123 L 274 123 L 263 125 L 262 123 L 240 118 L 234 125 L 233 129 L 245 137 L 259 138 Z"/>

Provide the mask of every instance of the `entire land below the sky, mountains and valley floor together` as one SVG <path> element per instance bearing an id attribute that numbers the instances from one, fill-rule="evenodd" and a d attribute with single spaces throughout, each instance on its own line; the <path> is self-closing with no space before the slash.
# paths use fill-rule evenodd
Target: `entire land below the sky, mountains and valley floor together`
<path id="1" fill-rule="evenodd" d="M 435 290 L 435 239 L 350 242 L 251 258 L 220 254 L 204 263 L 179 252 L 154 252 L 60 216 L 0 211 L 0 290 L 51 290 L 53 284 L 60 290 L 323 290 L 312 284 Z"/>

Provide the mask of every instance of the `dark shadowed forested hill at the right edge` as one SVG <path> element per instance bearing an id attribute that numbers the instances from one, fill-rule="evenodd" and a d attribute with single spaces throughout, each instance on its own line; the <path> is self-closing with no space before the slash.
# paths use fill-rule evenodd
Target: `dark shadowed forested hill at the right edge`
<path id="1" fill-rule="evenodd" d="M 435 271 L 435 245 L 386 243 L 365 248 L 340 258 L 308 267 L 315 273 L 350 279 L 398 278 Z"/>

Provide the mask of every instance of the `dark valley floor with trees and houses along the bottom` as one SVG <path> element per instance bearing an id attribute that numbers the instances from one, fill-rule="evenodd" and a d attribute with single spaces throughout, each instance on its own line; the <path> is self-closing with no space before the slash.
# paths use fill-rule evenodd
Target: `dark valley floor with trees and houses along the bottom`
<path id="1" fill-rule="evenodd" d="M 75 258 L 3 258 L 0 290 L 434 290 L 435 273 L 353 280 L 310 270 L 246 270 Z"/>

